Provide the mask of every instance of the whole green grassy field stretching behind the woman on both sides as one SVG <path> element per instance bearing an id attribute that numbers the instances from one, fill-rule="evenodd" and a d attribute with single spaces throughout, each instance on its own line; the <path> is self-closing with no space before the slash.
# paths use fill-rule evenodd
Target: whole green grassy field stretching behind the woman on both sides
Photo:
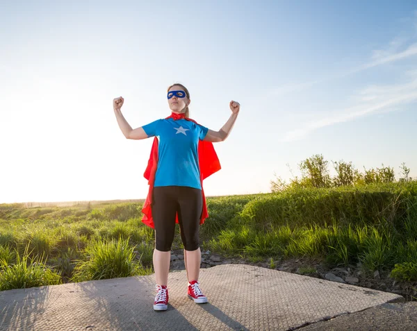
<path id="1" fill-rule="evenodd" d="M 207 205 L 202 251 L 271 268 L 306 258 L 417 282 L 416 181 L 211 197 Z M 140 221 L 141 207 L 0 205 L 0 290 L 152 273 L 154 230 Z"/>

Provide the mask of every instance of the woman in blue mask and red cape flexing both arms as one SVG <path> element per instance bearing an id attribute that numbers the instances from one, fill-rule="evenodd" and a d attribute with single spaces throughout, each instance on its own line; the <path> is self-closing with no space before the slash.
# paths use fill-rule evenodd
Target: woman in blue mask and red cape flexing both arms
<path id="1" fill-rule="evenodd" d="M 229 120 L 220 130 L 214 131 L 190 119 L 188 109 L 190 93 L 185 86 L 174 84 L 168 87 L 167 101 L 171 110 L 169 117 L 133 130 L 120 110 L 124 99 L 120 96 L 113 100 L 117 123 L 127 139 L 155 137 L 148 164 L 148 168 L 152 167 L 154 170 L 153 172 L 150 170 L 152 174 L 149 175 L 148 172 L 147 175 L 150 185 L 147 197 L 149 206 L 145 203 L 147 207 L 142 210 L 145 214 L 144 219 L 147 220 L 144 223 L 155 228 L 156 246 L 153 259 L 157 283 L 155 310 L 167 309 L 167 280 L 176 222 L 179 223 L 184 246 L 188 298 L 193 299 L 195 303 L 208 302 L 198 282 L 201 264 L 199 226 L 204 223 L 204 218 L 207 216 L 202 179 L 218 171 L 220 164 L 214 162 L 217 166 L 209 166 L 211 172 L 202 174 L 201 154 L 202 151 L 207 150 L 202 147 L 202 142 L 211 144 L 224 141 L 229 136 L 240 110 L 239 103 L 230 101 Z M 211 155 L 215 155 L 214 150 L 211 151 Z M 152 160 L 154 164 L 150 166 Z"/>

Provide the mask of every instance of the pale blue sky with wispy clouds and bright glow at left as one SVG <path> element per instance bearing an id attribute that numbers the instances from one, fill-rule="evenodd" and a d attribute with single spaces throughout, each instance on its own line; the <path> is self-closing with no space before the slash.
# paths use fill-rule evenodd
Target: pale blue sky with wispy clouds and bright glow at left
<path id="1" fill-rule="evenodd" d="M 1 1 L 0 203 L 139 199 L 166 90 L 219 130 L 206 196 L 270 192 L 321 154 L 417 176 L 416 1 Z M 292 173 L 292 174 L 291 174 Z"/>

